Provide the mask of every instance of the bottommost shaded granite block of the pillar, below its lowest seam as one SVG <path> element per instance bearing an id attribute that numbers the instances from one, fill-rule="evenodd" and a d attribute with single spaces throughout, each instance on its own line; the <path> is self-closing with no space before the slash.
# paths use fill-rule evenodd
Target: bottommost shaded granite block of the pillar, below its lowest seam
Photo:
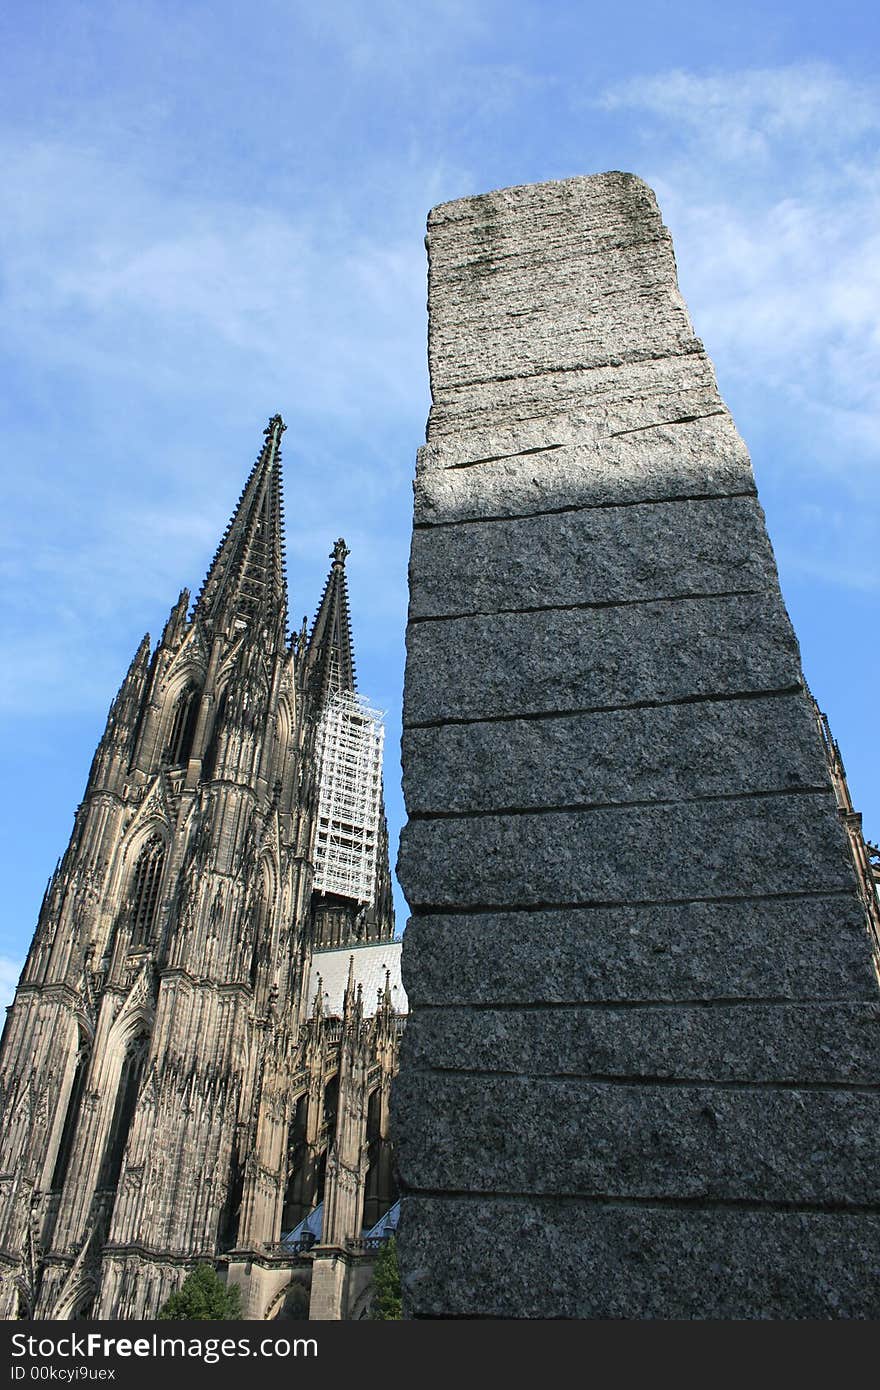
<path id="1" fill-rule="evenodd" d="M 425 1318 L 877 1315 L 874 1213 L 413 1195 L 399 1243 Z"/>

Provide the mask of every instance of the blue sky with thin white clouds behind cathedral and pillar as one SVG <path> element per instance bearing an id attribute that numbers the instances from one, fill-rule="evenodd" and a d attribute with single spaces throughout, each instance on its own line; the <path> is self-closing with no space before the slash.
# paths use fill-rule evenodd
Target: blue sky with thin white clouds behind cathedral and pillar
<path id="1" fill-rule="evenodd" d="M 623 168 L 755 463 L 806 677 L 880 835 L 880 26 L 737 0 L 42 0 L 0 15 L 0 986 L 107 705 L 267 418 L 292 619 L 338 535 L 399 795 L 438 202 Z M 399 903 L 400 917 L 403 906 Z"/>

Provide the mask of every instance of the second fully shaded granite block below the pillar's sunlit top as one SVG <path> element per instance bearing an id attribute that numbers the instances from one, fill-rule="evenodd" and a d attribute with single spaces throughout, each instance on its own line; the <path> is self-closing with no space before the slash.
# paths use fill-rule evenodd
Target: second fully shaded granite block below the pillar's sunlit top
<path id="1" fill-rule="evenodd" d="M 791 689 L 798 648 L 763 594 L 412 624 L 406 726 Z"/>

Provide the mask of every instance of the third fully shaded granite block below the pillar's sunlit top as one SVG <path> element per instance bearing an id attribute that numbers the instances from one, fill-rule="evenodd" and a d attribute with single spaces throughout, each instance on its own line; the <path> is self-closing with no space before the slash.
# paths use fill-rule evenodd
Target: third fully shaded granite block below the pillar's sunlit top
<path id="1" fill-rule="evenodd" d="M 410 816 L 674 801 L 824 787 L 827 767 L 799 695 L 546 719 L 410 728 Z"/>

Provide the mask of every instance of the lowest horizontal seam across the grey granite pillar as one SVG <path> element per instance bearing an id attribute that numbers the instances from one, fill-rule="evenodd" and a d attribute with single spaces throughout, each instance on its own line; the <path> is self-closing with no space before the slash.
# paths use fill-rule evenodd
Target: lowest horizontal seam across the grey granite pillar
<path id="1" fill-rule="evenodd" d="M 658 1211 L 747 1211 L 760 1215 L 763 1212 L 779 1215 L 805 1216 L 880 1216 L 880 1205 L 874 1202 L 841 1202 L 830 1200 L 827 1202 L 780 1202 L 760 1201 L 748 1197 L 613 1197 L 608 1193 L 532 1193 L 532 1191 L 494 1191 L 492 1188 L 431 1188 L 403 1184 L 403 1197 L 428 1197 L 438 1201 L 505 1201 L 521 1205 L 556 1205 L 560 1207 L 617 1207 L 628 1209 L 655 1208 Z"/>

